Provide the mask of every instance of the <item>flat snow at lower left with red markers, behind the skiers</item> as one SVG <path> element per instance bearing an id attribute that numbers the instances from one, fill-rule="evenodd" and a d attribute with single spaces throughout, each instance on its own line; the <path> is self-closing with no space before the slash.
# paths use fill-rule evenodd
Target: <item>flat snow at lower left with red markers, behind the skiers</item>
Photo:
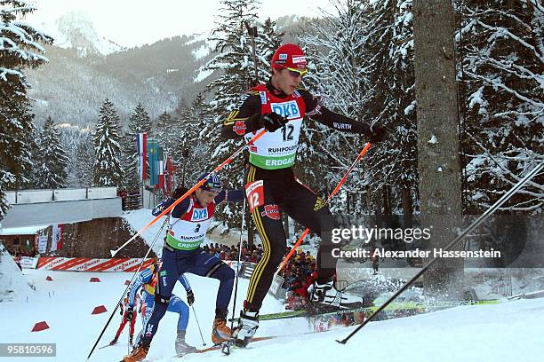
<path id="1" fill-rule="evenodd" d="M 2 263 L 2 265 L 8 265 L 8 263 Z M 14 263 L 12 266 L 17 268 Z M 57 358 L 41 358 L 39 360 L 56 361 L 85 360 L 124 291 L 124 281 L 132 276 L 127 272 L 41 270 L 25 270 L 24 272 L 25 275 L 24 277 L 20 276 L 20 281 L 28 280 L 31 285 L 36 287 L 36 291 L 30 287 L 20 287 L 17 302 L 0 303 L 2 307 L 0 308 L 0 320 L 3 325 L 0 328 L 0 342 L 55 342 L 57 343 Z M 52 281 L 47 281 L 47 276 L 51 276 Z M 90 282 L 92 277 L 98 277 L 100 283 Z M 195 290 L 195 310 L 203 328 L 205 342 L 209 346 L 212 343 L 210 336 L 219 281 L 192 274 L 188 274 L 188 279 Z M 247 279 L 240 279 L 237 310 L 241 308 L 244 301 L 248 282 Z M 180 285 L 174 288 L 174 294 L 185 300 L 185 291 Z M 92 315 L 92 310 L 99 305 L 104 305 L 108 312 Z M 232 303 L 230 309 L 232 310 Z M 275 299 L 267 298 L 265 300 L 263 311 L 282 310 L 283 305 L 276 302 Z M 41 332 L 30 332 L 32 327 L 40 321 L 46 321 L 50 328 Z M 117 312 L 100 340 L 99 346 L 107 344 L 113 338 L 120 321 L 121 316 Z M 149 358 L 165 358 L 175 353 L 176 324 L 177 314 L 167 312 L 161 321 L 159 333 L 153 341 L 154 348 L 150 351 Z M 300 326 L 304 331 L 308 330 L 307 323 L 303 320 L 291 321 L 289 325 Z M 140 316 L 138 316 L 136 329 L 139 330 L 140 327 Z M 269 327 L 274 327 L 274 324 L 270 324 Z M 262 330 L 263 333 L 270 332 L 268 327 L 263 327 Z M 124 334 L 120 338 L 124 342 L 106 349 L 95 350 L 91 360 L 120 359 L 127 351 L 127 342 L 125 342 L 128 338 L 127 335 L 128 326 L 125 327 Z M 194 316 L 189 320 L 187 340 L 197 347 L 202 347 Z M 2 358 L 1 360 L 10 360 L 10 358 Z M 20 358 L 13 358 L 13 360 L 21 361 Z"/>

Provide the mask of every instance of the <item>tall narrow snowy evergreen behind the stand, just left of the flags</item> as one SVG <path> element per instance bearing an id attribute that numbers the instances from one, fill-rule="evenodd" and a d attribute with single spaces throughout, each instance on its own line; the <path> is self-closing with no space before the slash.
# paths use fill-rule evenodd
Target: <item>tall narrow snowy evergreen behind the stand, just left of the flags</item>
<path id="1" fill-rule="evenodd" d="M 123 170 L 119 161 L 119 116 L 108 98 L 100 108 L 100 121 L 94 133 L 95 161 L 93 179 L 96 186 L 117 186 L 123 184 Z"/>

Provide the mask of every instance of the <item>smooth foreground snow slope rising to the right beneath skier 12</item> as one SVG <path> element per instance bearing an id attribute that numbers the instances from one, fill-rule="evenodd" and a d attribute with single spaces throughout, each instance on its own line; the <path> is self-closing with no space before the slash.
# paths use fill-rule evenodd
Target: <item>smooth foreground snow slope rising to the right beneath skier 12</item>
<path id="1" fill-rule="evenodd" d="M 247 350 L 234 350 L 228 358 L 235 358 L 236 362 L 263 360 L 263 356 L 270 360 L 294 361 L 537 362 L 544 351 L 543 326 L 544 299 L 466 306 L 371 323 L 345 345 L 335 340 L 345 338 L 354 327 L 255 342 Z M 281 333 L 290 334 L 290 330 L 285 328 Z M 219 358 L 221 353 L 212 351 L 183 359 L 212 361 Z"/>

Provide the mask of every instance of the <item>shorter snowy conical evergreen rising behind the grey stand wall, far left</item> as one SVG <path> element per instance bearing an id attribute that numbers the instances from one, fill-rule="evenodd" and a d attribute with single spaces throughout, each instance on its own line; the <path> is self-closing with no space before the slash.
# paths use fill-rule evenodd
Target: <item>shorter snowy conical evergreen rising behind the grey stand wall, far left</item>
<path id="1" fill-rule="evenodd" d="M 40 158 L 36 165 L 37 187 L 58 189 L 68 183 L 68 156 L 60 146 L 60 131 L 51 117 L 47 117 L 39 138 Z"/>

